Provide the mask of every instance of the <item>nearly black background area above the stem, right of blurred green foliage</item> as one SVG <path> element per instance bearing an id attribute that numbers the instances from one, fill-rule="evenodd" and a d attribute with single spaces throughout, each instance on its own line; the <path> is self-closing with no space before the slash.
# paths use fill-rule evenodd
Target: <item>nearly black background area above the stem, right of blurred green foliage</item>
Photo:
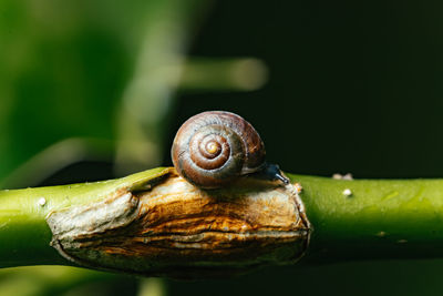
<path id="1" fill-rule="evenodd" d="M 219 1 L 190 53 L 253 55 L 257 92 L 182 95 L 173 131 L 204 110 L 253 122 L 289 172 L 443 175 L 443 3 Z M 168 160 L 165 160 L 167 162 Z"/>

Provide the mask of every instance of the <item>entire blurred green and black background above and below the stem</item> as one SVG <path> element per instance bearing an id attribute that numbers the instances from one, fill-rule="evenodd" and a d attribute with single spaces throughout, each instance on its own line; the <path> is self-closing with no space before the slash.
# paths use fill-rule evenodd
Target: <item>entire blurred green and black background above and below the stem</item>
<path id="1" fill-rule="evenodd" d="M 442 12 L 440 1 L 3 0 L 0 186 L 171 165 L 175 131 L 207 110 L 246 118 L 288 172 L 443 177 Z M 204 282 L 58 268 L 1 271 L 0 295 L 443 292 L 440 259 Z"/>

